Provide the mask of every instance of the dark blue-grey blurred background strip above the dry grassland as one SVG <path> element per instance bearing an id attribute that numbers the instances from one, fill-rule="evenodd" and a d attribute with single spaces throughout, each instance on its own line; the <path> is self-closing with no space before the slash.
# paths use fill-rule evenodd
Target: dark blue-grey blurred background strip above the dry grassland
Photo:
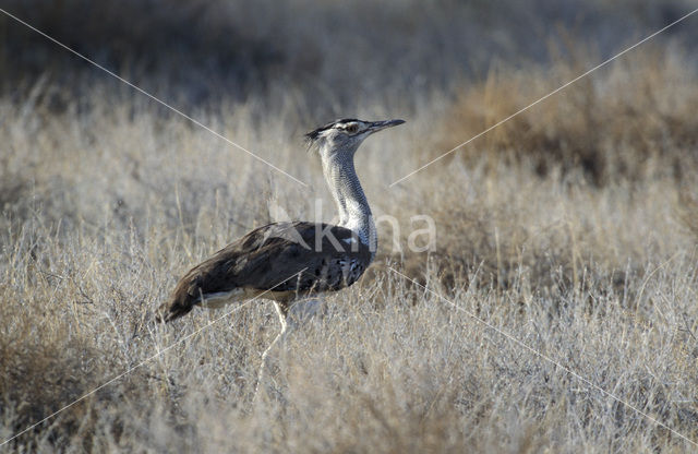
<path id="1" fill-rule="evenodd" d="M 604 59 L 689 11 L 687 0 L 3 0 L 49 36 L 185 109 L 254 100 L 334 118 L 380 97 L 418 106 L 453 94 L 497 63 L 550 64 L 585 48 Z M 0 17 L 0 88 L 21 99 L 55 86 L 64 108 L 95 85 L 130 88 L 14 22 Z M 683 24 L 655 43 L 691 48 Z M 695 58 L 694 62 L 695 64 Z M 314 123 L 313 123 L 314 124 Z"/>

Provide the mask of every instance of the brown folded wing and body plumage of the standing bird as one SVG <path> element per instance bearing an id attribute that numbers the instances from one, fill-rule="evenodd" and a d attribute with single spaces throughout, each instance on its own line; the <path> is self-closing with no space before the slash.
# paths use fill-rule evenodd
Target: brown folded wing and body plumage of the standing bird
<path id="1" fill-rule="evenodd" d="M 275 298 L 335 291 L 353 284 L 371 251 L 351 230 L 327 224 L 278 223 L 252 230 L 189 271 L 163 304 L 170 321 L 215 294 L 237 289 L 274 292 Z M 272 295 L 269 295 L 272 296 Z"/>

